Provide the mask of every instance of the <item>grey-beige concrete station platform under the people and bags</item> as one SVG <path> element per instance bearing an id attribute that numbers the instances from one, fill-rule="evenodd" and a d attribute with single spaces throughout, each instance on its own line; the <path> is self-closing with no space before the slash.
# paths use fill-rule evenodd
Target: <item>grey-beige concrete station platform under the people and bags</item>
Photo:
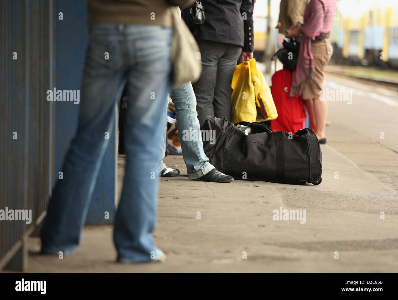
<path id="1" fill-rule="evenodd" d="M 355 82 L 344 84 L 358 88 Z M 320 185 L 189 181 L 182 157 L 170 155 L 165 163 L 181 175 L 160 181 L 154 233 L 166 263 L 115 263 L 112 226 L 86 226 L 74 255 L 31 254 L 28 271 L 397 272 L 398 108 L 362 96 L 355 96 L 351 106 L 328 106 L 332 125 L 328 144 L 322 145 Z M 364 117 L 369 114 L 372 118 Z M 382 125 L 368 129 L 367 119 Z M 385 140 L 378 139 L 380 131 L 386 132 Z M 119 182 L 123 173 L 119 157 Z M 306 210 L 305 224 L 273 220 L 273 210 L 280 207 Z M 39 239 L 30 238 L 29 245 L 38 251 Z"/>

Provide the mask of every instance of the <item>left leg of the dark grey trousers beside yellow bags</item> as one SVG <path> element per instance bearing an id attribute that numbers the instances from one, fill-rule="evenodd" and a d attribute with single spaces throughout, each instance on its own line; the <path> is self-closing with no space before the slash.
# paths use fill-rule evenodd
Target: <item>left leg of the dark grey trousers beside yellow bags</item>
<path id="1" fill-rule="evenodd" d="M 199 125 L 203 125 L 206 116 L 214 116 L 213 100 L 217 80 L 217 60 L 224 53 L 224 46 L 222 43 L 202 39 L 197 40 L 197 43 L 201 51 L 202 73 L 192 87 L 197 101 Z"/>

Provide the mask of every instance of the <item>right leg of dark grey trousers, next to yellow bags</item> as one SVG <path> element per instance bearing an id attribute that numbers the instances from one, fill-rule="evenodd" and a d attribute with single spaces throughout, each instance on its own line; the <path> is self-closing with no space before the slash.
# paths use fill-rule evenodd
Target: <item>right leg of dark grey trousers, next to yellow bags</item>
<path id="1" fill-rule="evenodd" d="M 232 93 L 232 75 L 234 75 L 236 61 L 242 54 L 242 47 L 239 45 L 224 43 L 225 51 L 219 58 L 217 64 L 217 81 L 214 89 L 214 116 L 217 118 L 226 118 L 232 121 L 231 112 L 231 93 Z"/>

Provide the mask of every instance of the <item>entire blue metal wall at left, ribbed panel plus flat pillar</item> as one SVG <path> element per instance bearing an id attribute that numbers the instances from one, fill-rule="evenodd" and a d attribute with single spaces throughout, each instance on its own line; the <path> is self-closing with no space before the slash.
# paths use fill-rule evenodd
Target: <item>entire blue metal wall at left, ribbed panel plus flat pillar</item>
<path id="1" fill-rule="evenodd" d="M 30 224 L 0 220 L 0 269 L 15 260 L 24 269 L 26 237 L 45 216 L 76 131 L 79 105 L 49 102 L 47 90 L 80 89 L 88 37 L 85 9 L 84 0 L 0 0 L 0 209 L 32 212 Z M 87 224 L 111 223 L 115 216 L 116 131 Z"/>

